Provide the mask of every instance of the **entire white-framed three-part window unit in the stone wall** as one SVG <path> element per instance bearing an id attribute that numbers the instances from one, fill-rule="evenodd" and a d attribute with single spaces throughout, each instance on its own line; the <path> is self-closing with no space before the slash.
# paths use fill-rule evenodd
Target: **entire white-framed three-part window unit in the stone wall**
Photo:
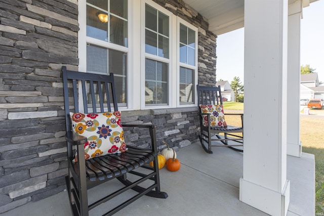
<path id="1" fill-rule="evenodd" d="M 85 0 L 78 7 L 79 70 L 114 73 L 120 110 L 194 106 L 196 26 L 151 0 Z"/>

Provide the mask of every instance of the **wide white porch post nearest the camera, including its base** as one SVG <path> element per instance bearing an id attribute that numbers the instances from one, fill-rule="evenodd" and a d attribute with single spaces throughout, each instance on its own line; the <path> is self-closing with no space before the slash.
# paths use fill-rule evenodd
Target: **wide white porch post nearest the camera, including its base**
<path id="1" fill-rule="evenodd" d="M 239 199 L 286 215 L 288 0 L 245 0 L 244 160 Z"/>

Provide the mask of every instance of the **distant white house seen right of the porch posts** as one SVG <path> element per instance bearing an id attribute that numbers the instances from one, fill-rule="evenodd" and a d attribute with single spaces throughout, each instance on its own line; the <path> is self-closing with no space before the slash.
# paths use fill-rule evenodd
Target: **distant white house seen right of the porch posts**
<path id="1" fill-rule="evenodd" d="M 324 86 L 319 85 L 317 73 L 300 75 L 300 99 L 322 99 L 324 100 Z"/>

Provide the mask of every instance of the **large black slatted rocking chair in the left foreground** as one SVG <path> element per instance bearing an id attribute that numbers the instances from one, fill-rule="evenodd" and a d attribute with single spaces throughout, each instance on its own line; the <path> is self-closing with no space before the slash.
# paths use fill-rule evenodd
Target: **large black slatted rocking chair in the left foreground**
<path id="1" fill-rule="evenodd" d="M 87 138 L 71 131 L 69 113 L 111 112 L 111 104 L 113 111 L 117 111 L 114 76 L 112 73 L 110 75 L 99 75 L 69 71 L 65 66 L 62 67 L 62 72 L 66 119 L 65 138 L 67 141 L 69 170 L 69 174 L 66 177 L 66 185 L 73 215 L 89 215 L 89 210 L 104 202 L 107 202 L 106 206 L 109 206 L 108 212 L 104 215 L 112 215 L 143 195 L 167 198 L 168 194 L 160 191 L 155 125 L 123 124 L 123 128 L 141 127 L 147 129 L 147 134 L 150 136 L 148 140 L 151 144 L 151 149 L 127 146 L 128 150 L 126 152 L 108 154 L 85 160 L 84 144 L 87 143 Z M 81 105 L 79 106 L 79 104 Z M 75 159 L 74 149 L 77 151 L 77 162 L 73 162 L 73 159 Z M 153 161 L 154 167 L 149 165 L 151 161 Z M 102 183 L 113 179 L 117 179 L 123 184 L 119 184 L 119 188 L 108 193 L 108 187 L 102 185 Z M 100 191 L 107 193 L 105 197 L 100 197 L 98 200 L 88 203 L 88 201 L 90 202 L 88 199 L 88 190 L 100 186 L 102 186 Z M 109 187 L 109 189 L 111 188 Z M 137 193 L 135 195 L 134 192 L 124 193 L 129 191 L 129 189 Z M 132 197 L 111 206 L 111 199 L 120 194 L 123 194 L 122 196 L 124 194 L 126 194 L 125 196 L 131 194 Z"/>

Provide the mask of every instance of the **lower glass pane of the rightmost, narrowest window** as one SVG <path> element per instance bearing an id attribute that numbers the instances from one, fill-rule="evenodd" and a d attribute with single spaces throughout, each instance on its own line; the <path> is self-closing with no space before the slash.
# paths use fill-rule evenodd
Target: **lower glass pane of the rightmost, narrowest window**
<path id="1" fill-rule="evenodd" d="M 194 103 L 194 70 L 180 67 L 180 104 Z"/>

